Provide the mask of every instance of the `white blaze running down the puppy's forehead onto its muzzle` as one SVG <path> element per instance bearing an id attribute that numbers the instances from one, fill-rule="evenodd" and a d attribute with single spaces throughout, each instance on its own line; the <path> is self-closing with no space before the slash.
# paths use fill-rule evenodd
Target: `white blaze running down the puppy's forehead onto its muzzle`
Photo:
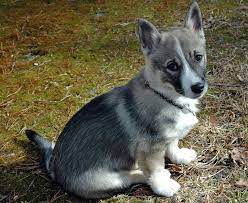
<path id="1" fill-rule="evenodd" d="M 182 84 L 182 88 L 184 90 L 184 94 L 185 96 L 193 96 L 194 93 L 191 90 L 191 86 L 201 82 L 201 78 L 196 74 L 196 72 L 190 67 L 188 61 L 185 58 L 185 55 L 183 53 L 183 50 L 181 48 L 181 45 L 178 41 L 178 39 L 175 37 L 176 39 L 176 51 L 178 53 L 178 55 L 180 56 L 180 59 L 182 61 L 182 73 L 181 73 L 181 84 Z"/>

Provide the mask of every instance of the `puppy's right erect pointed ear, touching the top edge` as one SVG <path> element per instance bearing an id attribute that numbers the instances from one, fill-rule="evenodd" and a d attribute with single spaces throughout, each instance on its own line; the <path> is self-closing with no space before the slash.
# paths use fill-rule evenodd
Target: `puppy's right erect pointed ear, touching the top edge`
<path id="1" fill-rule="evenodd" d="M 196 1 L 190 6 L 184 26 L 204 37 L 201 11 Z"/>

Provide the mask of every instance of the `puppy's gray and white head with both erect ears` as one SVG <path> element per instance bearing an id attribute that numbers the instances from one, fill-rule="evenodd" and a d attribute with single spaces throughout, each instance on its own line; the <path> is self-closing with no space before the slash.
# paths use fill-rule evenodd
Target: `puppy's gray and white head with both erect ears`
<path id="1" fill-rule="evenodd" d="M 184 27 L 159 32 L 150 22 L 139 19 L 138 35 L 146 59 L 146 77 L 154 87 L 169 87 L 192 99 L 206 93 L 205 38 L 196 2 L 189 9 Z"/>

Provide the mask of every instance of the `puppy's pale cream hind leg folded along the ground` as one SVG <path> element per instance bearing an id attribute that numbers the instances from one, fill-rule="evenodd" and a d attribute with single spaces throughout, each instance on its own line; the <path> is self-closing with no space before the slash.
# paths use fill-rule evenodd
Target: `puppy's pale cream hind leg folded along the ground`
<path id="1" fill-rule="evenodd" d="M 71 192 L 83 198 L 105 198 L 121 192 L 132 184 L 145 183 L 146 177 L 140 170 L 132 171 L 88 171 L 72 179 Z"/>

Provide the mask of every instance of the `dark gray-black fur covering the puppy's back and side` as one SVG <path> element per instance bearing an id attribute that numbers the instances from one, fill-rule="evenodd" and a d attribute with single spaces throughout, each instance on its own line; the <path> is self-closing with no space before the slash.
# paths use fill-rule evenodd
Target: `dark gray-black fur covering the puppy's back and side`
<path id="1" fill-rule="evenodd" d="M 125 128 L 114 111 L 118 101 L 125 100 L 122 95 L 128 91 L 130 90 L 127 87 L 115 88 L 90 101 L 72 117 L 54 150 L 56 177 L 63 178 L 61 171 L 70 171 L 71 175 L 77 176 L 92 168 L 107 167 L 111 170 L 121 170 L 132 165 L 134 156 L 128 151 L 131 138 L 126 136 Z M 115 99 L 111 99 L 113 95 Z M 61 151 L 67 156 L 59 156 L 58 153 Z M 101 156 L 98 157 L 99 155 Z M 117 157 L 123 159 L 121 163 L 115 164 Z M 110 161 L 113 164 L 111 166 Z"/>

